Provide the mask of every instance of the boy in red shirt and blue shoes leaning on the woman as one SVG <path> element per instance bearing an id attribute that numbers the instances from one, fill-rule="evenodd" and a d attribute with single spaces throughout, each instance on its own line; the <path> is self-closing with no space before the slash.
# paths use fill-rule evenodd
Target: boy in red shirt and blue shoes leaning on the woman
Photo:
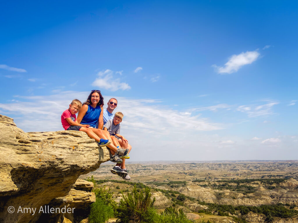
<path id="1" fill-rule="evenodd" d="M 110 145 L 111 142 L 108 139 L 100 139 L 96 134 L 94 134 L 90 129 L 89 125 L 82 125 L 77 123 L 77 116 L 75 115 L 82 107 L 82 102 L 80 100 L 72 100 L 69 105 L 69 109 L 65 110 L 61 115 L 61 123 L 65 130 L 74 130 L 86 132 L 91 139 L 95 139 L 99 146 Z"/>

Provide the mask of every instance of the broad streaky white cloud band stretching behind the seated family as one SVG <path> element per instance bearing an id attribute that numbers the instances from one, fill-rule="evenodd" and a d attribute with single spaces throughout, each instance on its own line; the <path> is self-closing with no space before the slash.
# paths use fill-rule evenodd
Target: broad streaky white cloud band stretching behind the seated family
<path id="1" fill-rule="evenodd" d="M 62 112 L 68 108 L 69 103 L 77 98 L 82 102 L 86 100 L 90 92 L 64 91 L 59 94 L 47 96 L 21 96 L 15 95 L 13 103 L 0 103 L 1 111 L 16 119 L 19 128 L 24 131 L 58 131 L 62 129 L 60 117 Z M 212 123 L 207 118 L 199 115 L 191 116 L 188 112 L 160 106 L 161 101 L 153 99 L 128 99 L 117 96 L 105 96 L 104 98 L 116 97 L 118 100 L 117 111 L 121 111 L 123 126 L 129 126 L 139 138 L 153 132 L 156 135 L 174 134 L 176 139 L 188 138 L 188 134 L 196 134 L 197 131 L 212 131 L 223 129 L 220 123 Z M 25 101 L 20 101 L 20 100 Z M 53 109 L 55 108 L 55 109 Z M 131 109 L 134 108 L 134 109 Z M 3 113 L 2 113 L 3 114 Z M 31 123 L 30 125 L 27 125 Z M 50 123 L 50 125 L 47 125 Z M 121 125 L 122 125 L 121 123 Z M 124 127 L 125 128 L 125 127 Z M 132 134 L 132 133 L 131 133 Z M 145 140 L 143 138 L 143 140 Z M 182 143 L 182 142 L 181 142 Z"/>

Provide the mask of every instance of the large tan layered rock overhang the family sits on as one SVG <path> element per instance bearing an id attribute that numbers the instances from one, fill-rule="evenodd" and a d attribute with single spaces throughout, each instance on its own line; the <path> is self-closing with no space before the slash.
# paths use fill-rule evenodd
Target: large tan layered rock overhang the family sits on
<path id="1" fill-rule="evenodd" d="M 67 203 L 77 178 L 110 158 L 84 132 L 25 133 L 3 115 L 0 129 L 0 222 L 37 222 L 41 206 L 65 196 Z"/>

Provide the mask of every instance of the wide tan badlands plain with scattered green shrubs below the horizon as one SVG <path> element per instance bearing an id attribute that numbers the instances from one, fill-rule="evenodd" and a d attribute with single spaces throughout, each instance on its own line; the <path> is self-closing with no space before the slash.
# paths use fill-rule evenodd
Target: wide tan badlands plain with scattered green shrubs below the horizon
<path id="1" fill-rule="evenodd" d="M 149 186 L 160 212 L 182 208 L 196 222 L 298 222 L 297 161 L 132 162 L 131 181 L 111 174 L 112 167 L 80 178 L 93 176 L 116 201 L 134 186 Z"/>

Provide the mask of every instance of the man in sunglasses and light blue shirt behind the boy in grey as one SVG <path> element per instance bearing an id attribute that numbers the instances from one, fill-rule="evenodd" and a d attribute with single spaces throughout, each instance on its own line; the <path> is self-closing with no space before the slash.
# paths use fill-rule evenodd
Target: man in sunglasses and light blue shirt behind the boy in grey
<path id="1" fill-rule="evenodd" d="M 108 101 L 108 107 L 106 109 L 103 110 L 103 124 L 105 125 L 105 123 L 114 118 L 114 114 L 113 111 L 114 109 L 117 107 L 118 101 L 116 98 L 111 98 Z M 118 142 L 120 144 L 120 146 L 124 149 L 129 149 L 129 152 L 131 150 L 131 145 L 128 144 L 128 142 L 123 141 L 122 139 L 120 139 L 119 137 L 115 136 L 118 139 Z M 111 172 L 114 174 L 117 174 L 119 176 L 121 176 L 124 180 L 130 180 L 130 176 L 127 174 L 126 168 L 125 168 L 125 159 L 122 159 L 122 163 L 121 164 L 117 164 L 115 167 L 113 167 L 111 169 Z"/>

